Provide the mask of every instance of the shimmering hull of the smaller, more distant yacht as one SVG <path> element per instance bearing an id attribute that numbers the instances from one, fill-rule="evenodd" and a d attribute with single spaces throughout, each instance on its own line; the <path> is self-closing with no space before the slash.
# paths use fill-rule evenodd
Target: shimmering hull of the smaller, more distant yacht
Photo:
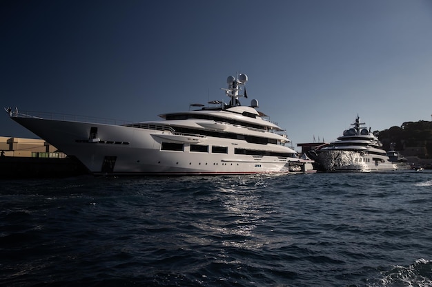
<path id="1" fill-rule="evenodd" d="M 390 162 L 388 156 L 367 151 L 330 149 L 319 151 L 317 156 L 324 170 L 330 172 L 378 172 L 397 169 L 397 165 Z"/>

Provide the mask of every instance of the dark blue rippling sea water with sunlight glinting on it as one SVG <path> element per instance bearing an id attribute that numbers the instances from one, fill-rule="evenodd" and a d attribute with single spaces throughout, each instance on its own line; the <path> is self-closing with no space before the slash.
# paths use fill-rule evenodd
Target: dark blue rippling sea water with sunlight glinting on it
<path id="1" fill-rule="evenodd" d="M 432 173 L 3 180 L 1 286 L 432 286 Z"/>

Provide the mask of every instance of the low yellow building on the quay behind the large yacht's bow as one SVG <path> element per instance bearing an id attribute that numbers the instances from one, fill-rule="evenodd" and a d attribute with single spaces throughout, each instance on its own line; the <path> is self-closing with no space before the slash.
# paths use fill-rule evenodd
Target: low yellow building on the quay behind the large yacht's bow
<path id="1" fill-rule="evenodd" d="M 0 136 L 1 156 L 32 158 L 66 158 L 57 148 L 37 138 L 8 138 Z"/>

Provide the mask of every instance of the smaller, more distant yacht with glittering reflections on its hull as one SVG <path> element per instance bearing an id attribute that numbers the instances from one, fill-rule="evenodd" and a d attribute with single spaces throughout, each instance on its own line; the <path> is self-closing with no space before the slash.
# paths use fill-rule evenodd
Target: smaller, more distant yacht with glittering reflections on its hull
<path id="1" fill-rule="evenodd" d="M 351 129 L 328 145 L 315 150 L 317 162 L 325 171 L 393 171 L 397 165 L 389 160 L 382 143 L 362 127 L 360 117 L 355 118 Z"/>

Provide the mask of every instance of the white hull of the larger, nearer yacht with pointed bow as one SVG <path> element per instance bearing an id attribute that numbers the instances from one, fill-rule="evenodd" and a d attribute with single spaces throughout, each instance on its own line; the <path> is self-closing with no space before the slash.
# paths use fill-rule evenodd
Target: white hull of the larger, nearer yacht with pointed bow
<path id="1" fill-rule="evenodd" d="M 120 125 L 25 117 L 13 119 L 68 156 L 77 157 L 95 175 L 288 173 L 289 163 L 299 161 L 289 157 L 235 154 L 235 147 L 269 149 L 269 145 L 263 147 L 245 140 L 199 138 Z M 92 129 L 97 129 L 97 138 L 89 138 Z M 183 149 L 162 150 L 161 142 L 180 143 Z M 204 142 L 209 147 L 227 147 L 227 152 L 190 151 L 190 145 Z M 281 145 L 271 145 L 271 149 L 291 150 Z"/>

